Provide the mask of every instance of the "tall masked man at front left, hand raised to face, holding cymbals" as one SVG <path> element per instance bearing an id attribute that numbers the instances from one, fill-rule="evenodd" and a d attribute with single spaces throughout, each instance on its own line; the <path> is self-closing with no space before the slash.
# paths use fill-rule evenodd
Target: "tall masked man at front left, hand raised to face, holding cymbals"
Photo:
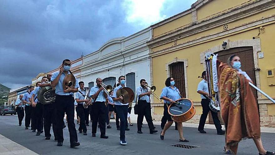
<path id="1" fill-rule="evenodd" d="M 63 90 L 63 80 L 66 75 L 70 74 L 69 69 L 71 68 L 71 61 L 65 59 L 62 62 L 59 72 L 56 72 L 51 77 L 52 87 L 55 87 L 55 106 L 56 106 L 56 123 L 57 123 L 57 146 L 63 146 L 63 121 L 65 112 L 68 117 L 68 129 L 70 133 L 71 147 L 79 146 L 77 132 L 74 124 L 74 97 L 73 93 L 78 92 L 78 80 L 76 79 L 75 88 L 66 87 Z"/>

